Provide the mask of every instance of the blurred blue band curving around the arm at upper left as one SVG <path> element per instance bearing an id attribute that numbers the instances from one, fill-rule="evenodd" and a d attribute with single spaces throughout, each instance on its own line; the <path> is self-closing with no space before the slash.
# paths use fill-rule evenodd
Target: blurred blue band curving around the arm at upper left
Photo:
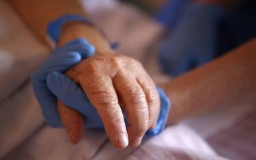
<path id="1" fill-rule="evenodd" d="M 61 35 L 61 27 L 65 25 L 66 22 L 72 22 L 72 21 L 81 21 L 81 22 L 87 22 L 91 25 L 93 23 L 86 17 L 75 15 L 75 14 L 66 14 L 63 16 L 60 16 L 56 20 L 53 20 L 53 22 L 49 22 L 47 27 L 47 33 L 53 39 L 55 44 L 57 44 L 59 37 Z"/>

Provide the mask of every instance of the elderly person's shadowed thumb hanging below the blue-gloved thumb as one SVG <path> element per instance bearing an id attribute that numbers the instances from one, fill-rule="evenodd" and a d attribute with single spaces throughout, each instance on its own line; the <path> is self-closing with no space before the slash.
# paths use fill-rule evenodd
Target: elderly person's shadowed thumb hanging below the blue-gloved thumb
<path id="1" fill-rule="evenodd" d="M 83 116 L 76 110 L 61 103 L 59 100 L 57 101 L 57 108 L 61 118 L 61 123 L 68 132 L 70 142 L 72 144 L 79 143 L 83 136 Z"/>

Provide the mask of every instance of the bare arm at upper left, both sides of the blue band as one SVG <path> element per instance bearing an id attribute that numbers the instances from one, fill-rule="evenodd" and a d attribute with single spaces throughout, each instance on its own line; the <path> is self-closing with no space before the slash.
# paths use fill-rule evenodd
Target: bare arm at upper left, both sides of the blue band
<path id="1" fill-rule="evenodd" d="M 40 39 L 46 42 L 48 23 L 65 14 L 87 16 L 78 1 L 69 0 L 8 0 L 10 5 L 20 14 Z M 104 36 L 85 22 L 70 22 L 63 27 L 58 45 L 65 44 L 77 37 L 84 37 L 96 50 L 109 50 L 109 43 Z M 48 44 L 49 45 L 49 44 Z"/>

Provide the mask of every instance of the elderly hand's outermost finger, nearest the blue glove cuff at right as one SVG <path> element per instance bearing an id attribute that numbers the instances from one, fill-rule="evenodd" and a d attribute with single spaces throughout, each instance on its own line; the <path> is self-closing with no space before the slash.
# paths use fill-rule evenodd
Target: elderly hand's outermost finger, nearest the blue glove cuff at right
<path id="1" fill-rule="evenodd" d="M 145 97 L 147 99 L 147 106 L 150 114 L 149 126 L 156 125 L 157 118 L 160 112 L 160 99 L 154 82 L 145 76 L 137 76 L 137 82 L 141 85 Z"/>

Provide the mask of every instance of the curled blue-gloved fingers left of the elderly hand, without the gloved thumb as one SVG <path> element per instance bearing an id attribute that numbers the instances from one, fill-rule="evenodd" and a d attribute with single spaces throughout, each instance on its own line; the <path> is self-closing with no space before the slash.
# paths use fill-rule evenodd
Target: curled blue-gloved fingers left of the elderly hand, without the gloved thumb
<path id="1" fill-rule="evenodd" d="M 75 39 L 72 42 L 57 48 L 53 55 L 47 59 L 42 67 L 31 76 L 33 91 L 38 99 L 44 119 L 52 127 L 61 127 L 57 111 L 57 99 L 46 85 L 46 76 L 53 71 L 61 73 L 79 63 L 83 58 L 94 54 L 94 46 L 85 39 Z"/>

